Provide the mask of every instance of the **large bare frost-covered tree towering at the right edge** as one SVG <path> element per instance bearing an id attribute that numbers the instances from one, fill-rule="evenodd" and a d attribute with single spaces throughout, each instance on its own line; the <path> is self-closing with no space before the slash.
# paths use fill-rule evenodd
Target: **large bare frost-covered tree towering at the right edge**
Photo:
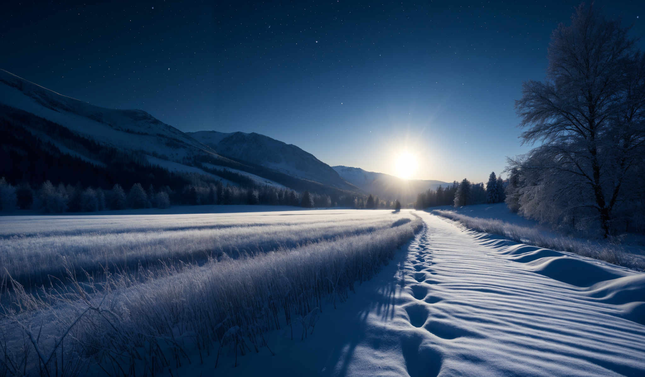
<path id="1" fill-rule="evenodd" d="M 593 210 L 610 234 L 631 171 L 645 161 L 645 60 L 627 34 L 581 5 L 551 35 L 546 81 L 524 83 L 515 103 L 522 142 L 541 145 L 510 165 L 535 172 L 535 193 L 551 195 L 529 201 L 529 216 Z M 555 207 L 562 203 L 568 208 Z"/>

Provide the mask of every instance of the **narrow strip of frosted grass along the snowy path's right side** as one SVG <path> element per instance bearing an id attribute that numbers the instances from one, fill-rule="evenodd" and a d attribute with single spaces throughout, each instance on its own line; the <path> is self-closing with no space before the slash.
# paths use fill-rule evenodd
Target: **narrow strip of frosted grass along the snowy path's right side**
<path id="1" fill-rule="evenodd" d="M 645 270 L 645 261 L 642 258 L 624 252 L 620 247 L 615 245 L 601 245 L 599 243 L 593 243 L 591 241 L 585 242 L 569 237 L 549 236 L 534 228 L 521 227 L 499 219 L 473 218 L 448 210 L 432 210 L 431 213 L 459 221 L 459 223 L 470 229 L 499 234 L 515 242 L 526 243 L 544 249 L 572 252 L 630 269 Z"/>

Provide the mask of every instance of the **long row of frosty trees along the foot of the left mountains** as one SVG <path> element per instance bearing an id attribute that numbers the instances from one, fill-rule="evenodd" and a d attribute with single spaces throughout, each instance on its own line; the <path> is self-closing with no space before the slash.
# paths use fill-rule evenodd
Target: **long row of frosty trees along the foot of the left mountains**
<path id="1" fill-rule="evenodd" d="M 28 183 L 11 185 L 0 178 L 0 210 L 34 209 L 45 213 L 94 212 L 99 210 L 168 208 L 170 205 L 290 205 L 305 208 L 353 207 L 355 196 L 332 196 L 273 186 L 239 187 L 221 181 L 208 185 L 184 185 L 173 190 L 164 185 L 144 188 L 134 183 L 128 190 L 116 183 L 112 188 L 52 184 L 37 188 Z M 362 198 L 361 198 L 362 200 Z"/>

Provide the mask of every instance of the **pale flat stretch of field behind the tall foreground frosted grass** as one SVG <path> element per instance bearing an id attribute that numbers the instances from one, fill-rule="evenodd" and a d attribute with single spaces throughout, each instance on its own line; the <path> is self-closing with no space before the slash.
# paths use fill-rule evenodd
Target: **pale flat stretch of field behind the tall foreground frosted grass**
<path id="1" fill-rule="evenodd" d="M 132 270 L 159 263 L 202 263 L 392 227 L 390 211 L 268 212 L 261 215 L 29 216 L 0 230 L 0 281 L 25 286 L 105 267 Z M 409 216 L 409 215 L 406 215 Z"/>

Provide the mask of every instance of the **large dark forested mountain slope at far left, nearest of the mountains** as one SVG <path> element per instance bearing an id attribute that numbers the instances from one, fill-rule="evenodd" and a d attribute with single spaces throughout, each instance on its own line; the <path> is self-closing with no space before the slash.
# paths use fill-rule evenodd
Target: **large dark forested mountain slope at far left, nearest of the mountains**
<path id="1" fill-rule="evenodd" d="M 337 181 L 333 186 L 324 183 L 324 177 L 319 178 L 315 174 L 308 179 L 297 178 L 257 164 L 227 158 L 144 110 L 98 107 L 59 94 L 6 70 L 0 70 L 0 123 L 5 125 L 2 130 L 5 141 L 0 142 L 0 155 L 4 158 L 3 164 L 0 164 L 1 174 L 14 181 L 30 181 L 35 185 L 50 178 L 60 181 L 62 176 L 67 177 L 68 181 L 65 183 L 75 183 L 75 178 L 70 177 L 74 174 L 52 176 L 45 168 L 57 166 L 58 159 L 70 163 L 63 155 L 78 159 L 79 166 L 82 165 L 84 169 L 103 167 L 107 169 L 106 174 L 110 170 L 108 181 L 114 181 L 118 174 L 112 171 L 114 167 L 106 166 L 114 162 L 114 155 L 119 159 L 119 164 L 128 160 L 130 169 L 141 169 L 142 174 L 145 170 L 150 170 L 146 166 L 154 165 L 188 177 L 186 179 L 190 179 L 190 174 L 199 174 L 233 185 L 268 184 L 337 195 L 348 192 L 358 194 L 360 191 L 342 181 L 328 165 L 325 166 L 333 172 Z M 8 132 L 14 132 L 14 135 L 7 134 Z M 21 139 L 30 140 L 34 147 L 21 142 Z M 88 149 L 87 146 L 92 146 L 93 149 Z M 43 156 L 55 161 L 40 163 L 38 159 Z M 34 178 L 33 174 L 28 176 L 25 169 L 18 168 L 21 164 L 25 167 L 38 164 L 40 180 Z M 152 174 L 153 170 L 145 174 Z M 82 169 L 70 168 L 69 172 L 72 171 L 83 174 Z M 97 174 L 92 172 L 90 175 L 99 178 L 100 174 Z M 162 175 L 170 177 L 168 174 Z M 231 178 L 233 181 L 230 181 Z M 95 184 L 106 185 L 108 181 L 98 179 Z"/>

